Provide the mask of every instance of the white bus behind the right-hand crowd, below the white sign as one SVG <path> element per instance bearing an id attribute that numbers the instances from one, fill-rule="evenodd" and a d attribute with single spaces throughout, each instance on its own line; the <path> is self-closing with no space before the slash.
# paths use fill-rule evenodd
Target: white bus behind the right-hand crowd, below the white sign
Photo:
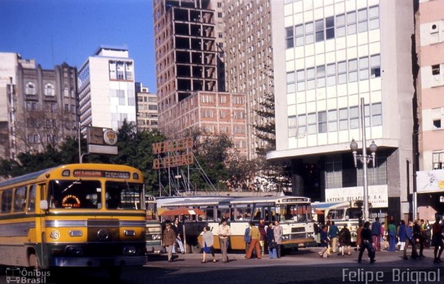
<path id="1" fill-rule="evenodd" d="M 352 242 L 356 242 L 356 231 L 362 218 L 362 201 L 314 202 L 311 203 L 311 208 L 316 222 L 325 224 L 330 219 L 339 230 L 347 224 Z"/>

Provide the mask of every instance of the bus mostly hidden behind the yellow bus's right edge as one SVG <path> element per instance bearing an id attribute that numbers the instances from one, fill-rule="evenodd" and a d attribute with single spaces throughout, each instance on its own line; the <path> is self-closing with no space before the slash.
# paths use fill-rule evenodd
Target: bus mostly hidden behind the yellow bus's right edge
<path id="1" fill-rule="evenodd" d="M 162 253 L 162 226 L 157 215 L 157 201 L 149 195 L 145 197 L 146 206 L 146 252 Z"/>

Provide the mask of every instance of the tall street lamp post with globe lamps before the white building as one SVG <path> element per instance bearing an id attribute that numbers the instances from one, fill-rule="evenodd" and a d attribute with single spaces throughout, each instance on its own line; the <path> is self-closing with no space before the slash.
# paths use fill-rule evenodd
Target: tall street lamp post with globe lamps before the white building
<path id="1" fill-rule="evenodd" d="M 367 183 L 367 164 L 373 161 L 373 167 L 375 167 L 375 156 L 377 151 L 377 146 L 375 141 L 372 141 L 370 147 L 370 155 L 367 155 L 367 142 L 366 142 L 366 120 L 364 115 L 364 98 L 361 98 L 361 136 L 362 136 L 362 155 L 357 153 L 358 144 L 355 139 L 352 139 L 350 143 L 350 149 L 353 153 L 353 160 L 355 161 L 355 167 L 357 167 L 357 160 L 362 163 L 362 170 L 364 176 L 364 221 L 368 221 L 368 183 Z"/>

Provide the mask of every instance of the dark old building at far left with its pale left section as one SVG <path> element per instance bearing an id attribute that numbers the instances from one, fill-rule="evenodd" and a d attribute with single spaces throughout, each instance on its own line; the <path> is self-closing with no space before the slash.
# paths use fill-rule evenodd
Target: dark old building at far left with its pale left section
<path id="1" fill-rule="evenodd" d="M 42 69 L 35 60 L 22 59 L 17 53 L 0 56 L 1 135 L 8 141 L 2 157 L 44 151 L 48 144 L 56 147 L 65 137 L 76 137 L 76 68 L 63 63 Z"/>

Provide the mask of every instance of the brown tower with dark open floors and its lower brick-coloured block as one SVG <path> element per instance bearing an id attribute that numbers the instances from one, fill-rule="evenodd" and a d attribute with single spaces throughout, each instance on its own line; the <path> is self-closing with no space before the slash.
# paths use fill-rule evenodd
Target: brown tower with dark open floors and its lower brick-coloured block
<path id="1" fill-rule="evenodd" d="M 153 2 L 159 128 L 168 137 L 194 127 L 226 132 L 245 155 L 244 94 L 223 92 L 219 78 L 222 9 L 223 1 Z"/>

